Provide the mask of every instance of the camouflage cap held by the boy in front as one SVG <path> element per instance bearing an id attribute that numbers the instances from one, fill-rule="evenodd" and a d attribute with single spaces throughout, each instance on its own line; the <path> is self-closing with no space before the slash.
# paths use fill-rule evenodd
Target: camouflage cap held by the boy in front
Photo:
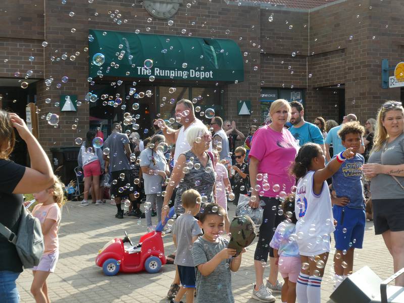
<path id="1" fill-rule="evenodd" d="M 231 238 L 227 247 L 236 249 L 236 256 L 238 256 L 244 247 L 254 241 L 255 230 L 256 226 L 250 217 L 246 215 L 234 217 L 230 224 Z"/>

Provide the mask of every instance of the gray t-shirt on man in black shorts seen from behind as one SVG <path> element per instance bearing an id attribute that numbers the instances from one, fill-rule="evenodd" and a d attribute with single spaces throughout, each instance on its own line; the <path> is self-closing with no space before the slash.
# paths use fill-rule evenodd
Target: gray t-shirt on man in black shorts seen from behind
<path id="1" fill-rule="evenodd" d="M 104 142 L 104 149 L 110 149 L 110 171 L 130 170 L 129 160 L 125 153 L 125 144 L 129 144 L 126 134 L 113 132 Z"/>

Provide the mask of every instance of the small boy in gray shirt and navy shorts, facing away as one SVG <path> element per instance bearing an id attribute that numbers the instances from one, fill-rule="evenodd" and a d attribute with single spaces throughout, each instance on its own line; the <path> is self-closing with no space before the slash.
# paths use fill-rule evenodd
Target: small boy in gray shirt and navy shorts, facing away
<path id="1" fill-rule="evenodd" d="M 193 217 L 199 213 L 201 197 L 194 189 L 184 191 L 181 196 L 184 214 L 179 216 L 174 225 L 173 240 L 177 247 L 174 264 L 177 265 L 182 287 L 171 303 L 181 302 L 186 293 L 186 302 L 193 302 L 195 291 L 195 267 L 192 260 L 192 243 L 202 234 L 198 221 Z"/>

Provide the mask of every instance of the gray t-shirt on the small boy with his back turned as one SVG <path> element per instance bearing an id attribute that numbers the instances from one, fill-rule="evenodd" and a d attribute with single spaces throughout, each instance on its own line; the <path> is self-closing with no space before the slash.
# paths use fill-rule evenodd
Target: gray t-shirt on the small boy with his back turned
<path id="1" fill-rule="evenodd" d="M 173 234 L 177 237 L 177 254 L 174 264 L 193 267 L 192 237 L 203 234 L 196 220 L 190 214 L 183 214 L 175 221 Z"/>

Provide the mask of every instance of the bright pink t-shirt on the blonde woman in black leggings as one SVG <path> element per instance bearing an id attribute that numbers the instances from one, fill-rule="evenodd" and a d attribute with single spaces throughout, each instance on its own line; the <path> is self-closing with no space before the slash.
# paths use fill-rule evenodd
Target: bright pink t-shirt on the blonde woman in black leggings
<path id="1" fill-rule="evenodd" d="M 296 140 L 286 128 L 283 128 L 282 132 L 277 132 L 269 125 L 265 125 L 256 131 L 252 137 L 248 157 L 257 158 L 260 161 L 258 173 L 268 175 L 270 189 L 264 191 L 265 197 L 275 197 L 282 190 L 290 193 L 295 178 L 289 174 L 289 169 L 296 154 Z M 262 186 L 262 180 L 258 180 L 257 184 Z M 273 190 L 275 184 L 279 185 L 280 190 Z"/>

